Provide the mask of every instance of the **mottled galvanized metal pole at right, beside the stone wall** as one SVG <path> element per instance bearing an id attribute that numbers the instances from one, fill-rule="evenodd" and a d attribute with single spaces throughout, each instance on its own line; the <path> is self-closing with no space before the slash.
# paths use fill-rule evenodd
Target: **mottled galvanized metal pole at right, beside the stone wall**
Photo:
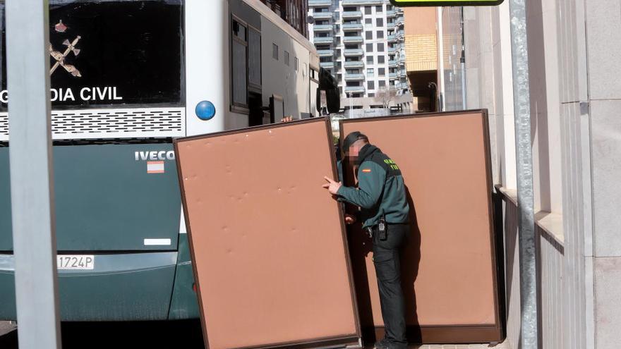
<path id="1" fill-rule="evenodd" d="M 538 349 L 533 152 L 525 0 L 510 0 L 511 56 L 519 207 L 520 348 Z"/>

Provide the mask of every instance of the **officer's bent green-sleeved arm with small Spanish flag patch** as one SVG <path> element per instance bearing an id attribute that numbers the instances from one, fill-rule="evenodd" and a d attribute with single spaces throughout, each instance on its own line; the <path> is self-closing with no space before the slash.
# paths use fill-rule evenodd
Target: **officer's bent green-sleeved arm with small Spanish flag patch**
<path id="1" fill-rule="evenodd" d="M 378 204 L 384 191 L 386 171 L 378 164 L 365 161 L 358 169 L 358 188 L 350 188 L 344 185 L 339 188 L 339 197 L 350 204 L 371 209 Z"/>

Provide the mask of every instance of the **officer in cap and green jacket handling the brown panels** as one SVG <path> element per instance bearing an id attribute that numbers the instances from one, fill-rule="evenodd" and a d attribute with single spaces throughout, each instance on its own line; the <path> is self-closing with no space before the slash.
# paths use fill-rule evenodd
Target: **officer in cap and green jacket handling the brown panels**
<path id="1" fill-rule="evenodd" d="M 325 177 L 328 183 L 323 188 L 337 200 L 358 207 L 355 217 L 346 216 L 346 223 L 358 219 L 373 236 L 373 264 L 385 324 L 385 337 L 375 343 L 375 348 L 407 348 L 399 265 L 400 247 L 409 235 L 409 204 L 403 177 L 399 166 L 378 147 L 370 145 L 362 133 L 347 135 L 343 149 L 350 163 L 358 167 L 358 187 L 346 187 Z"/>

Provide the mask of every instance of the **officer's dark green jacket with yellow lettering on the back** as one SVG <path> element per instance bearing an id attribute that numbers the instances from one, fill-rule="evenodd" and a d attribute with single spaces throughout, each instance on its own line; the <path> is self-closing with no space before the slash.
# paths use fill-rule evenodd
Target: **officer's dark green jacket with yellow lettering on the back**
<path id="1" fill-rule="evenodd" d="M 358 154 L 358 188 L 339 188 L 339 200 L 360 207 L 363 227 L 375 226 L 383 215 L 389 224 L 408 223 L 409 204 L 399 166 L 373 145 Z"/>

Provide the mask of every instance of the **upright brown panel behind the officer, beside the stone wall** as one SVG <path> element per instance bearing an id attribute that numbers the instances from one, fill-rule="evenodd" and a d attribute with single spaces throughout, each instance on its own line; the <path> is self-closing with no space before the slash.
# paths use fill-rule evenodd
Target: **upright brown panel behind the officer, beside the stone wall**
<path id="1" fill-rule="evenodd" d="M 397 162 L 409 190 L 415 224 L 402 283 L 413 341 L 500 339 L 487 127 L 485 111 L 342 121 L 342 139 L 354 130 L 368 135 Z M 361 324 L 383 326 L 371 243 L 359 225 L 349 244 Z"/>

